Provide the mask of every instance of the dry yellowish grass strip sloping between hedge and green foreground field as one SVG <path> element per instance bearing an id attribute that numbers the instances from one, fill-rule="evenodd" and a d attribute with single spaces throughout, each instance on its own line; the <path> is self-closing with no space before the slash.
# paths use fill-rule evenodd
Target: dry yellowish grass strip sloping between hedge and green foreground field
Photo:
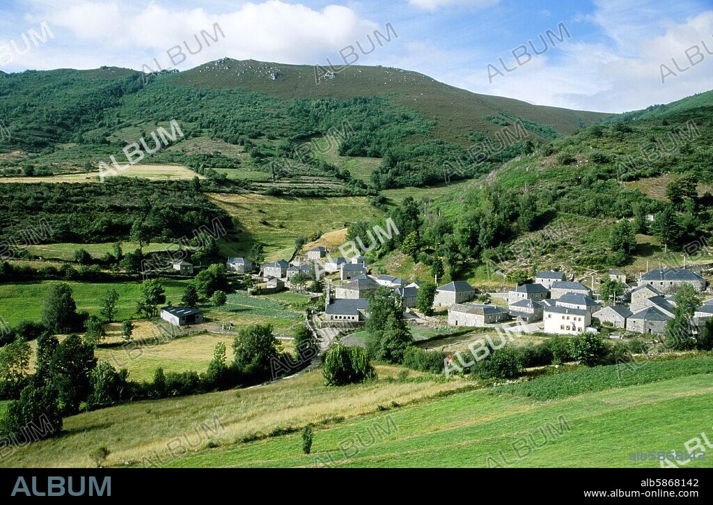
<path id="1" fill-rule="evenodd" d="M 392 381 L 400 368 L 377 366 L 379 379 L 347 387 L 326 387 L 319 371 L 260 387 L 191 397 L 123 404 L 64 419 L 64 434 L 29 447 L 21 447 L 2 466 L 90 466 L 88 452 L 99 446 L 111 450 L 107 463 L 141 464 L 143 458 L 170 458 L 167 444 L 176 437 L 190 437 L 191 444 L 205 447 L 234 444 L 244 438 L 270 434 L 309 422 L 335 422 L 375 412 L 391 402 L 407 404 L 439 392 L 468 387 L 468 382 L 440 380 Z M 201 424 L 215 426 L 215 434 L 201 437 Z"/>

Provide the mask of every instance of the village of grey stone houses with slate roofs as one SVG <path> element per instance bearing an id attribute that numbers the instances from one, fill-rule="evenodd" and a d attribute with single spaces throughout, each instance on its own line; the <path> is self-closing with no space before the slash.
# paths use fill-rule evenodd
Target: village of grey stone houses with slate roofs
<path id="1" fill-rule="evenodd" d="M 309 293 L 315 298 L 324 296 L 324 310 L 314 317 L 319 328 L 354 329 L 364 325 L 369 317 L 369 294 L 379 287 L 393 290 L 409 322 L 424 324 L 434 319 L 416 308 L 424 282 L 373 273 L 363 255 L 331 257 L 326 247 L 316 246 L 292 262 L 277 260 L 258 266 L 246 258 L 231 257 L 225 265 L 230 272 L 251 275 L 256 285 L 251 292 L 256 294 L 308 292 L 307 282 L 324 280 L 324 292 Z M 186 262 L 173 267 L 184 274 L 193 272 L 193 265 Z M 431 307 L 436 317 L 445 316 L 447 325 L 454 328 L 516 327 L 525 334 L 549 335 L 597 333 L 605 328 L 612 330 L 608 334 L 615 338 L 625 333 L 664 335 L 674 317 L 674 294 L 690 285 L 704 300 L 695 312 L 694 325 L 700 328 L 713 318 L 711 287 L 692 270 L 660 268 L 641 272 L 636 280 L 627 278 L 621 270 L 608 270 L 600 285 L 607 280 L 620 286 L 620 292 L 609 300 L 602 300 L 593 287 L 558 271 L 537 272 L 532 283 L 503 293 L 481 292 L 466 281 L 453 281 L 436 287 Z M 164 307 L 161 317 L 176 326 L 203 320 L 202 312 L 195 307 Z"/>

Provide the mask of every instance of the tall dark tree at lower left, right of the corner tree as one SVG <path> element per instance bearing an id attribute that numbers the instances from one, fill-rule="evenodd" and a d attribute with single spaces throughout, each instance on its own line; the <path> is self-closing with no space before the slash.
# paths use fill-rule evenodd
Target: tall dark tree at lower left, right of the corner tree
<path id="1" fill-rule="evenodd" d="M 57 345 L 51 362 L 48 384 L 58 392 L 63 414 L 79 411 L 79 404 L 91 392 L 89 375 L 96 367 L 94 347 L 82 342 L 78 335 L 69 335 Z"/>

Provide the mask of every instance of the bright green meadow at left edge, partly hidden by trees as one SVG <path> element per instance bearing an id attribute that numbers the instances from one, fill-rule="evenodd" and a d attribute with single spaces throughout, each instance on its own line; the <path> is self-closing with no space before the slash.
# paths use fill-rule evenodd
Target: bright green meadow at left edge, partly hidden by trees
<path id="1" fill-rule="evenodd" d="M 0 284 L 0 316 L 9 325 L 23 320 L 39 321 L 42 315 L 42 300 L 50 285 L 59 281 L 9 282 Z M 167 302 L 178 305 L 188 280 L 162 280 Z M 136 312 L 136 300 L 140 296 L 138 281 L 127 282 L 67 282 L 72 288 L 77 310 L 96 314 L 101 308 L 101 298 L 108 290 L 119 293 L 117 319 L 129 319 Z"/>

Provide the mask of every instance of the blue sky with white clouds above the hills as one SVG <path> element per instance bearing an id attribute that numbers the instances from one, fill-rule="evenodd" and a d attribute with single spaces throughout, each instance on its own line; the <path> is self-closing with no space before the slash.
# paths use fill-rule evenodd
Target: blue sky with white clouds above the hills
<path id="1" fill-rule="evenodd" d="M 5 72 L 185 71 L 225 56 L 393 66 L 476 93 L 615 113 L 713 88 L 713 0 L 0 4 Z"/>

